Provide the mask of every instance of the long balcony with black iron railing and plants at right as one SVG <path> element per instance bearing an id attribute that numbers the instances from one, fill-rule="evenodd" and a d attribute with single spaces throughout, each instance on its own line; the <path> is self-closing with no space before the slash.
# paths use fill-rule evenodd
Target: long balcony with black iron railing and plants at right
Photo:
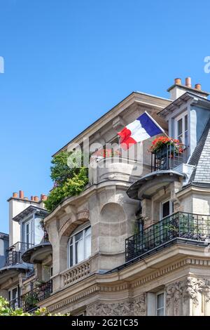
<path id="1" fill-rule="evenodd" d="M 208 246 L 210 216 L 177 212 L 125 240 L 125 260 L 145 258 L 176 243 Z"/>

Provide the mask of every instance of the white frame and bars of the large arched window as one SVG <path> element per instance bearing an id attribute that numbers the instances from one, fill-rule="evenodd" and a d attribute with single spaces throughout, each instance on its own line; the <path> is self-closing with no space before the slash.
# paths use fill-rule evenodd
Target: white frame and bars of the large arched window
<path id="1" fill-rule="evenodd" d="M 90 256 L 85 256 L 86 254 L 86 240 L 85 240 L 85 233 L 87 231 L 87 229 L 90 228 L 90 237 L 91 237 L 91 233 L 92 233 L 92 228 L 91 228 L 91 225 L 90 223 L 88 223 L 88 225 L 85 225 L 85 227 L 78 227 L 78 230 L 74 231 L 71 236 L 69 237 L 69 240 L 68 240 L 68 243 L 67 243 L 67 268 L 72 268 L 76 265 L 78 265 L 79 263 L 83 263 L 83 261 L 87 260 L 90 258 L 91 256 L 91 239 L 90 239 Z M 83 238 L 81 239 L 82 242 L 83 242 L 83 260 L 80 260 L 76 263 L 76 242 L 79 242 L 80 240 L 76 241 L 76 235 L 78 235 L 80 232 L 83 233 Z M 72 239 L 72 243 L 70 244 L 71 242 L 71 239 Z M 73 246 L 73 262 L 72 262 L 72 265 L 71 265 L 71 260 L 70 260 L 70 246 Z"/>

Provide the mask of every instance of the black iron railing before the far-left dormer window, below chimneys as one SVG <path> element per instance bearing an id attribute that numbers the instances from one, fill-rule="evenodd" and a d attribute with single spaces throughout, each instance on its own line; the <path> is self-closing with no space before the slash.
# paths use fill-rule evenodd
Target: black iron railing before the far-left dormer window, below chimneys
<path id="1" fill-rule="evenodd" d="M 34 244 L 17 242 L 6 250 L 6 266 L 22 263 L 22 254 Z"/>

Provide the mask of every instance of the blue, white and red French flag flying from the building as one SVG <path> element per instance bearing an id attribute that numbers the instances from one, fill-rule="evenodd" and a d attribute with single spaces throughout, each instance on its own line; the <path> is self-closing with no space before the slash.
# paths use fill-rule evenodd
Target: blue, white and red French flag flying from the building
<path id="1" fill-rule="evenodd" d="M 125 128 L 118 133 L 120 136 L 120 147 L 127 150 L 131 145 L 160 133 L 165 133 L 165 131 L 147 112 L 144 112 L 144 114 L 141 114 L 139 118 L 125 126 Z"/>

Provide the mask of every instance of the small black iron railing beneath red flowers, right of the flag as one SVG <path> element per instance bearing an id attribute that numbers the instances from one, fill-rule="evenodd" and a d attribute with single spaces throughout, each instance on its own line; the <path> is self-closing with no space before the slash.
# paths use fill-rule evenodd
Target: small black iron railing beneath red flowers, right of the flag
<path id="1" fill-rule="evenodd" d="M 188 147 L 179 145 L 165 145 L 158 152 L 151 154 L 151 171 L 172 170 L 176 166 L 186 164 L 188 161 Z"/>

